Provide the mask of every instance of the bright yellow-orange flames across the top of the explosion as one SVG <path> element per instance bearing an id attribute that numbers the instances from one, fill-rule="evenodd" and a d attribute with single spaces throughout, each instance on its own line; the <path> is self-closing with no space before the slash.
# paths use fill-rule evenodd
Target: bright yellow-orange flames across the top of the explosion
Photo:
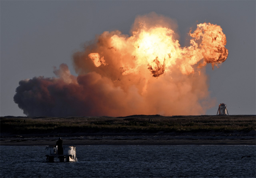
<path id="1" fill-rule="evenodd" d="M 142 29 L 133 31 L 131 37 L 121 35 L 117 31 L 113 35 L 108 34 L 108 38 L 103 38 L 108 46 L 99 46 L 98 50 L 101 49 L 102 57 L 99 53 L 90 53 L 88 56 L 96 67 L 106 66 L 107 63 L 112 63 L 108 61 L 117 60 L 118 68 L 125 71 L 123 75 L 138 73 L 140 66 L 148 66 L 147 69 L 153 77 L 171 71 L 172 67 L 180 68 L 182 74 L 191 74 L 194 73 L 192 66 L 201 60 L 199 67 L 206 63 L 212 63 L 212 66 L 218 65 L 226 60 L 228 55 L 228 50 L 225 48 L 226 36 L 220 26 L 201 23 L 193 33 L 189 32 L 189 34 L 193 38 L 191 46 L 181 48 L 178 40 L 174 40 L 174 31 L 170 28 L 156 26 L 147 29 L 142 26 Z M 106 47 L 108 50 L 102 50 Z M 108 58 L 105 62 L 104 55 L 109 56 L 109 53 L 110 56 L 117 55 L 118 59 Z M 179 65 L 176 66 L 176 63 Z"/>

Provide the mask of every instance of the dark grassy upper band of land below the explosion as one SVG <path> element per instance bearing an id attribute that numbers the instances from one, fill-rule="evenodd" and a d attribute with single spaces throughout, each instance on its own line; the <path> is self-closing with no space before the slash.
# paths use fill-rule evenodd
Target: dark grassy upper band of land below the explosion
<path id="1" fill-rule="evenodd" d="M 1 133 L 157 133 L 256 130 L 255 115 L 127 117 L 1 117 Z"/>

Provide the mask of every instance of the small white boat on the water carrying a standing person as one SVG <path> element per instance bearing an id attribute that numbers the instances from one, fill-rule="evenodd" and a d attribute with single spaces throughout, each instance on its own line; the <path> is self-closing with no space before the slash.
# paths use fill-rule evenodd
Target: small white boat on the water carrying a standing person
<path id="1" fill-rule="evenodd" d="M 76 146 L 63 146 L 63 155 L 58 154 L 57 146 L 46 146 L 46 161 L 55 162 L 54 158 L 59 158 L 60 162 L 77 162 Z"/>

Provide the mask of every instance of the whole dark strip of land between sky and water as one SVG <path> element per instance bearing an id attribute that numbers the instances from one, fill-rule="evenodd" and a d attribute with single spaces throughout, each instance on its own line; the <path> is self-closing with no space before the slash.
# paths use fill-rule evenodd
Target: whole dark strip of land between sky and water
<path id="1" fill-rule="evenodd" d="M 0 118 L 1 145 L 251 144 L 256 115 Z"/>

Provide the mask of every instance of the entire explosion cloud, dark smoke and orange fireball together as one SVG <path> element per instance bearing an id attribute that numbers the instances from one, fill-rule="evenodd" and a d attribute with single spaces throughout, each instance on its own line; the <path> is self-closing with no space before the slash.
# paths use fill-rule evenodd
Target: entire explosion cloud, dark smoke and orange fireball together
<path id="1" fill-rule="evenodd" d="M 201 115 L 215 105 L 205 66 L 228 55 L 222 28 L 210 23 L 189 32 L 180 47 L 177 24 L 150 13 L 138 16 L 131 35 L 105 31 L 73 55 L 78 76 L 68 66 L 56 77 L 22 80 L 15 103 L 27 116 Z"/>

